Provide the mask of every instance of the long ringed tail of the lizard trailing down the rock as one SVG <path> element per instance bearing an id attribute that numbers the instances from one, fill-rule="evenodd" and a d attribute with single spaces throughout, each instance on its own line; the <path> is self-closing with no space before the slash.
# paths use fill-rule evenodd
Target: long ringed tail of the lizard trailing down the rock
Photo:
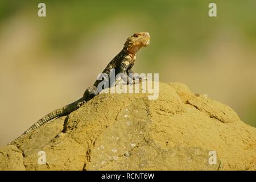
<path id="1" fill-rule="evenodd" d="M 43 118 L 39 119 L 36 123 L 34 123 L 29 129 L 27 129 L 23 134 L 21 134 L 18 138 L 16 138 L 15 140 L 13 140 L 13 142 L 8 143 L 9 144 L 15 144 L 16 140 L 23 137 L 24 135 L 26 135 L 27 133 L 30 133 L 31 131 L 39 128 L 40 126 L 44 125 L 45 123 L 47 123 L 48 121 L 50 121 L 51 119 L 57 118 L 57 117 L 61 117 L 64 115 L 68 115 L 69 113 L 71 113 L 72 111 L 77 110 L 82 104 L 84 104 L 84 100 L 83 98 L 80 98 L 79 100 L 61 107 L 60 109 L 56 109 L 54 111 L 52 111 L 51 113 L 47 114 L 46 116 L 44 116 Z"/>

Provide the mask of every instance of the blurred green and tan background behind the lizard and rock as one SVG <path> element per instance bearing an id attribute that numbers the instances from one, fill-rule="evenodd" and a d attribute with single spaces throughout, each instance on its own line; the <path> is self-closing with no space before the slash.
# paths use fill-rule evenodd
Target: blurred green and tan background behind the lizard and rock
<path id="1" fill-rule="evenodd" d="M 217 17 L 208 16 L 210 2 Z M 256 126 L 255 9 L 255 0 L 1 0 L 0 145 L 79 98 L 140 31 L 151 45 L 137 53 L 135 72 L 183 82 Z"/>

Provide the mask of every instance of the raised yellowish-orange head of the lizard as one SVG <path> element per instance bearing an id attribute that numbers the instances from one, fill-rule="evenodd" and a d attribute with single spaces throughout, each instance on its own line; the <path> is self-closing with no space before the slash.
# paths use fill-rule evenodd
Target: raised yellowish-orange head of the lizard
<path id="1" fill-rule="evenodd" d="M 141 47 L 146 47 L 150 44 L 150 34 L 148 32 L 139 32 L 130 36 L 125 42 L 125 48 L 136 53 Z"/>

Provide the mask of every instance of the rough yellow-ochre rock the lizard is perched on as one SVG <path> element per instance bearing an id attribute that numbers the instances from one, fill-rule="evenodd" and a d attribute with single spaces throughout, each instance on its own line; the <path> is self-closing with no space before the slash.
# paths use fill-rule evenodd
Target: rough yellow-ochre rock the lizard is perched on
<path id="1" fill-rule="evenodd" d="M 39 151 L 46 164 L 38 164 Z M 210 151 L 217 164 L 209 164 Z M 211 160 L 212 161 L 212 160 Z M 159 98 L 100 94 L 0 148 L 0 170 L 255 170 L 256 129 L 181 83 Z"/>

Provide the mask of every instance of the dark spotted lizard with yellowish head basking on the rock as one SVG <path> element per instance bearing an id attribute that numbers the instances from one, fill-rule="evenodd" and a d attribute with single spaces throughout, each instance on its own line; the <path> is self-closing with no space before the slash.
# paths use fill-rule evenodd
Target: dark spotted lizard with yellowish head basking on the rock
<path id="1" fill-rule="evenodd" d="M 130 77 L 133 74 L 132 67 L 136 60 L 136 53 L 142 47 L 146 47 L 150 44 L 150 34 L 148 32 L 138 32 L 130 36 L 126 39 L 126 42 L 122 48 L 122 50 L 110 61 L 110 63 L 106 66 L 104 71 L 105 75 L 108 76 L 107 80 L 110 80 L 111 70 L 115 69 L 115 76 L 119 73 L 123 73 L 125 76 Z M 105 78 L 102 78 L 102 80 Z M 23 137 L 27 133 L 39 128 L 40 126 L 44 125 L 48 121 L 51 121 L 53 118 L 62 117 L 72 113 L 73 111 L 79 109 L 82 105 L 86 102 L 91 100 L 92 98 L 96 97 L 100 90 L 109 88 L 113 85 L 110 83 L 108 85 L 104 85 L 106 88 L 98 88 L 98 85 L 102 80 L 96 80 L 92 86 L 89 86 L 79 100 L 72 102 L 60 109 L 56 109 L 51 113 L 45 115 L 43 118 L 39 119 L 36 123 L 34 123 L 30 128 L 28 128 L 23 134 L 21 134 L 18 138 L 10 142 L 9 144 L 15 144 L 16 140 Z M 141 79 L 140 79 L 141 81 Z M 127 81 L 128 84 L 128 81 Z"/>

